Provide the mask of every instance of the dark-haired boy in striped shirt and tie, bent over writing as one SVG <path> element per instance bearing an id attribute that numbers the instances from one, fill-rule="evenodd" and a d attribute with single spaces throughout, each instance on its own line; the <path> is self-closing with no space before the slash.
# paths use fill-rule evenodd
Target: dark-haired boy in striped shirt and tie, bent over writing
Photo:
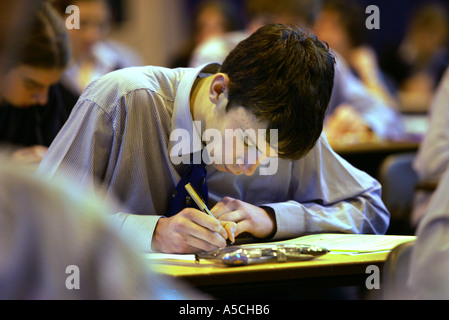
<path id="1" fill-rule="evenodd" d="M 143 251 L 212 250 L 243 233 L 384 233 L 380 184 L 322 135 L 334 63 L 314 35 L 276 24 L 240 42 L 222 66 L 112 72 L 85 90 L 39 174 L 70 170 L 74 183 L 100 183 L 126 208 L 114 220 Z M 231 147 L 226 130 L 243 133 Z M 190 154 L 201 151 L 212 162 L 195 188 L 208 187 L 205 201 L 221 224 L 171 204 Z"/>

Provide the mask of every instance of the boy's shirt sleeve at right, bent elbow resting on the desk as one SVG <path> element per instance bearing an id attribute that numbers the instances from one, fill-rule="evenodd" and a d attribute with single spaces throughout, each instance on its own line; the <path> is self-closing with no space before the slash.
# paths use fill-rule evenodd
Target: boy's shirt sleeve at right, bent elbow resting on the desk
<path id="1" fill-rule="evenodd" d="M 276 216 L 276 239 L 305 233 L 384 234 L 390 214 L 378 181 L 338 156 L 324 135 L 292 167 L 290 201 L 266 204 Z"/>

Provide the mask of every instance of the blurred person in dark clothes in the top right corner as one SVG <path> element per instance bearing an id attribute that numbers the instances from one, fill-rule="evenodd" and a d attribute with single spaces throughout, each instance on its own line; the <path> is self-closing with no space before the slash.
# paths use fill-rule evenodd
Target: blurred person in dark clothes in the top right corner
<path id="1" fill-rule="evenodd" d="M 404 111 L 427 112 L 449 63 L 449 15 L 436 3 L 417 6 L 401 43 L 381 56 L 381 68 L 396 83 Z"/>

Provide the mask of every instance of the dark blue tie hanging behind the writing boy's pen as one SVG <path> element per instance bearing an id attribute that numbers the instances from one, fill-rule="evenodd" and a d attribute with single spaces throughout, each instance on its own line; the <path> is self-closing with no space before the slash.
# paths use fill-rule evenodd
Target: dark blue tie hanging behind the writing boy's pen
<path id="1" fill-rule="evenodd" d="M 189 193 L 185 189 L 185 185 L 189 182 L 201 196 L 204 203 L 207 204 L 208 190 L 207 190 L 206 176 L 207 176 L 206 164 L 202 161 L 202 159 L 201 163 L 198 164 L 195 164 L 193 163 L 193 161 L 191 161 L 186 171 L 184 172 L 184 175 L 181 177 L 181 180 L 179 180 L 175 191 L 172 194 L 165 215 L 167 217 L 171 217 L 187 207 L 199 209 L 195 201 L 193 201 L 190 198 Z"/>

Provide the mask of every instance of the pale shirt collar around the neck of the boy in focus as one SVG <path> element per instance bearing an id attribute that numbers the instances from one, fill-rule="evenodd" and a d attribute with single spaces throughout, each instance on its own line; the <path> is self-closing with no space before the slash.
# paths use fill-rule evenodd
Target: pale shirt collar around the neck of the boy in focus
<path id="1" fill-rule="evenodd" d="M 200 73 L 215 74 L 220 69 L 220 64 L 212 63 L 198 68 L 189 69 L 181 78 L 175 97 L 171 129 L 171 138 L 178 140 L 169 142 L 171 157 L 189 155 L 203 148 L 201 142 L 201 128 L 194 126 L 190 112 L 190 92 L 193 83 Z M 198 124 L 196 122 L 195 124 Z M 176 131 L 175 131 L 176 130 Z M 173 153 L 176 154 L 172 154 Z"/>

